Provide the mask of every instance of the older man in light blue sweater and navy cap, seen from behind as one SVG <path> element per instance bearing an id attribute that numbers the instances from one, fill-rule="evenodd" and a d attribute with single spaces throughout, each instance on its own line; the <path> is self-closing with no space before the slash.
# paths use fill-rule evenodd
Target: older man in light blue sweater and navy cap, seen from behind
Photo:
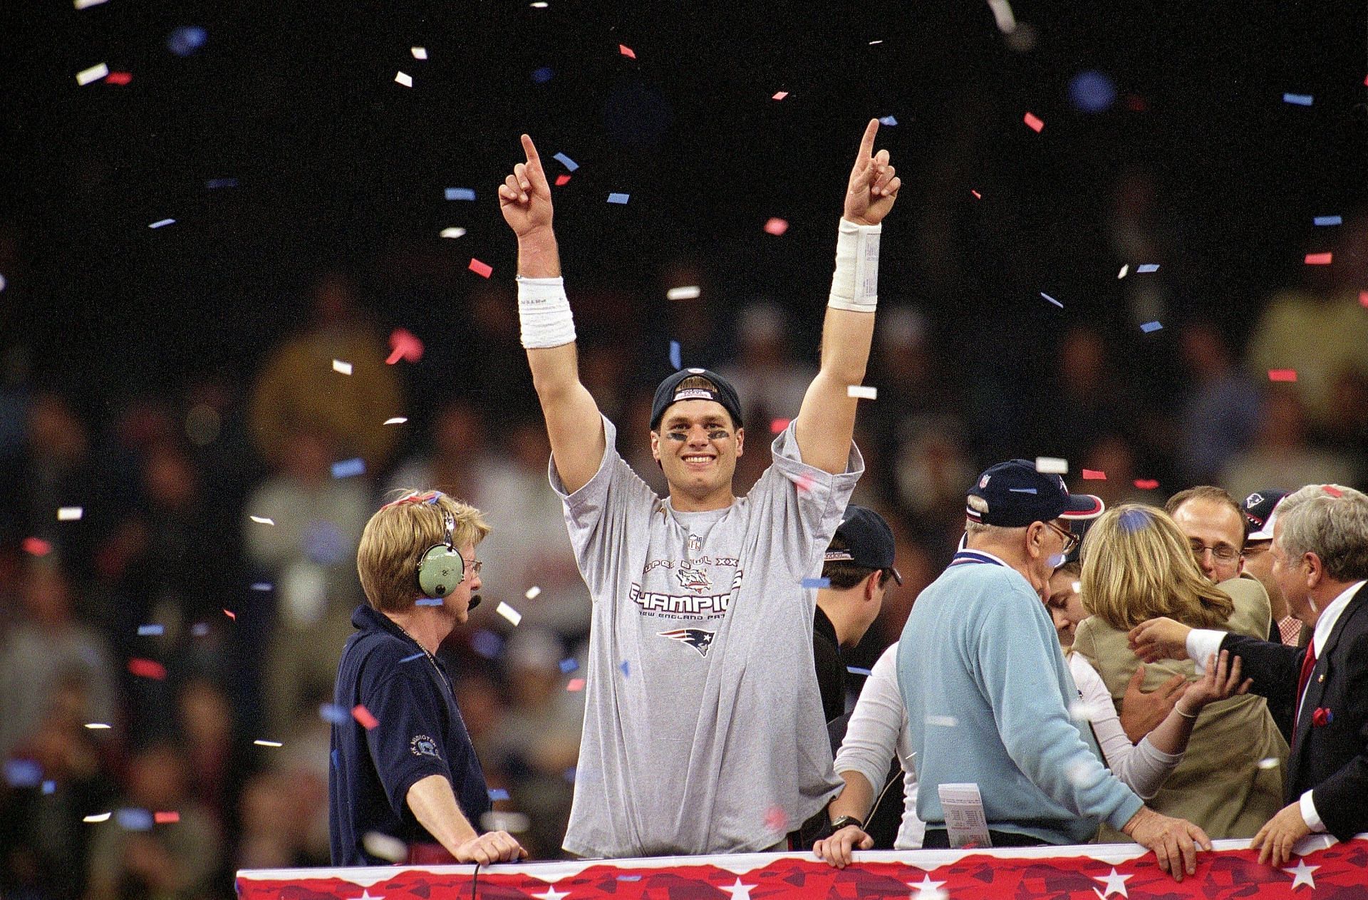
<path id="1" fill-rule="evenodd" d="M 973 782 L 995 845 L 1082 844 L 1107 822 L 1179 881 L 1196 871 L 1194 841 L 1211 849 L 1196 825 L 1146 808 L 1070 717 L 1078 688 L 1041 600 L 1078 540 L 1070 520 L 1101 512 L 1026 460 L 970 488 L 966 546 L 917 598 L 897 652 L 923 847 L 949 847 L 940 785 Z"/>

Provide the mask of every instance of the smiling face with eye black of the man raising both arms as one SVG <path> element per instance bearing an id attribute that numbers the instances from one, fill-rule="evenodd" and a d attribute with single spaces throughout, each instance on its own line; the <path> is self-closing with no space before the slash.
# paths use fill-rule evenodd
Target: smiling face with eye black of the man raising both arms
<path id="1" fill-rule="evenodd" d="M 679 510 L 729 506 L 736 460 L 746 431 L 713 399 L 683 399 L 665 409 L 661 427 L 651 432 L 651 455 L 670 484 Z"/>

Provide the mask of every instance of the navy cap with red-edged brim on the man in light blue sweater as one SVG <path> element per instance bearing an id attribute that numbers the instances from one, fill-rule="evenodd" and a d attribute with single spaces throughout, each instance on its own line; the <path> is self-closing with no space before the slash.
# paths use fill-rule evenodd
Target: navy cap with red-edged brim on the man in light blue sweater
<path id="1" fill-rule="evenodd" d="M 971 522 L 1023 528 L 1055 518 L 1097 518 L 1103 501 L 1092 494 L 1070 494 L 1064 479 L 1037 472 L 1030 460 L 1008 460 L 989 466 L 971 488 L 964 516 Z"/>

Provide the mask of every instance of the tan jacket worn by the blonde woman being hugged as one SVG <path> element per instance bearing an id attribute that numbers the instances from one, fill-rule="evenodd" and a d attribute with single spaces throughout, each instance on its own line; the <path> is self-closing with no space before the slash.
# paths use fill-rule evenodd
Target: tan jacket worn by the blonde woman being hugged
<path id="1" fill-rule="evenodd" d="M 1223 631 L 1267 639 L 1271 611 L 1263 585 L 1238 577 L 1219 587 L 1235 602 Z M 1126 643 L 1126 632 L 1089 617 L 1078 625 L 1074 650 L 1101 674 L 1119 711 L 1126 685 L 1140 665 Z M 1141 688 L 1153 691 L 1178 672 L 1189 681 L 1197 680 L 1192 662 L 1170 659 L 1148 665 Z M 1286 763 L 1287 741 L 1263 698 L 1249 693 L 1209 703 L 1193 726 L 1183 760 L 1149 806 L 1197 823 L 1212 838 L 1253 837 L 1283 806 Z M 1101 840 L 1108 840 L 1105 830 Z"/>

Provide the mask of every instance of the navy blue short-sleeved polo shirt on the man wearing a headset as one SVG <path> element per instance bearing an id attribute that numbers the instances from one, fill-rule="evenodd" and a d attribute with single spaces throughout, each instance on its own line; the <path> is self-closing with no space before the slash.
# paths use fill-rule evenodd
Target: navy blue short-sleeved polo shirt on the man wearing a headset
<path id="1" fill-rule="evenodd" d="M 357 607 L 352 624 L 360 631 L 342 650 L 334 702 L 345 710 L 365 706 L 379 725 L 367 730 L 352 717 L 332 726 L 332 864 L 383 866 L 393 860 L 361 847 L 369 832 L 405 844 L 436 843 L 406 803 L 415 782 L 428 776 L 447 778 L 476 830 L 492 804 L 446 667 L 369 606 Z"/>

